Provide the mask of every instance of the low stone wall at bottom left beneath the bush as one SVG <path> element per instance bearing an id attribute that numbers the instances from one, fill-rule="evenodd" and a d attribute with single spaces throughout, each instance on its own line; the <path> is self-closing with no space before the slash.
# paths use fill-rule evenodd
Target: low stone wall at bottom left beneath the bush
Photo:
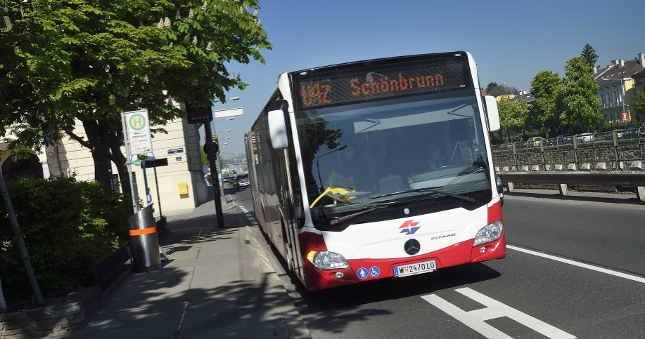
<path id="1" fill-rule="evenodd" d="M 45 300 L 47 306 L 0 314 L 0 338 L 41 338 L 61 335 L 87 324 L 101 304 L 101 288 L 91 286 L 63 298 Z"/>

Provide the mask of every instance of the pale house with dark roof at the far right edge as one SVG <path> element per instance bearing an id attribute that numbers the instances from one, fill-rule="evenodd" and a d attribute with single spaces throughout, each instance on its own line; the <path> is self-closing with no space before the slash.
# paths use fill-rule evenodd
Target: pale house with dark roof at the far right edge
<path id="1" fill-rule="evenodd" d="M 600 113 L 605 124 L 622 124 L 623 113 L 627 114 L 627 121 L 645 121 L 642 114 L 636 114 L 632 103 L 637 90 L 634 79 L 641 79 L 642 84 L 644 69 L 645 53 L 639 53 L 637 58 L 627 62 L 611 60 L 611 65 L 605 68 L 594 67 L 592 75 L 599 86 Z"/>

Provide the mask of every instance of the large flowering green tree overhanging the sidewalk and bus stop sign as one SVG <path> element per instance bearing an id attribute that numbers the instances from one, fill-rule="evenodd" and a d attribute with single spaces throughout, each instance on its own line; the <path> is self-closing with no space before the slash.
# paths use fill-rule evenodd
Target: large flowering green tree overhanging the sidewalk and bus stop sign
<path id="1" fill-rule="evenodd" d="M 207 106 L 214 97 L 224 102 L 230 88 L 246 86 L 225 63 L 264 62 L 260 49 L 272 48 L 257 18 L 257 0 L 32 0 L 30 8 L 21 0 L 4 2 L 10 5 L 6 13 L 20 18 L 15 21 L 26 32 L 50 32 L 41 53 L 61 65 L 51 67 L 58 75 L 49 81 L 53 89 L 44 106 L 55 112 L 58 133 L 91 149 L 95 178 L 106 183 L 110 161 L 128 178 L 120 150 L 122 112 L 148 109 L 151 125 L 162 126 L 184 116 L 176 102 Z M 24 59 L 29 64 L 34 58 Z M 25 115 L 16 107 L 6 112 Z M 74 132 L 75 121 L 87 139 Z M 129 182 L 122 182 L 129 192 Z"/>

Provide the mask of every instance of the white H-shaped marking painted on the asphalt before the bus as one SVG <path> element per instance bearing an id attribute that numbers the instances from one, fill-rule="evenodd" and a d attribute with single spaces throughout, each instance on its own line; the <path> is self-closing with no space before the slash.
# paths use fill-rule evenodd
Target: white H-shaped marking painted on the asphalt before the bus
<path id="1" fill-rule="evenodd" d="M 448 315 L 454 317 L 455 319 L 461 321 L 461 323 L 477 331 L 481 335 L 484 335 L 486 338 L 512 338 L 506 333 L 499 331 L 497 328 L 490 326 L 485 323 L 486 320 L 497 319 L 501 317 L 509 317 L 528 328 L 531 328 L 538 333 L 541 333 L 544 336 L 547 336 L 551 339 L 573 339 L 577 338 L 574 335 L 570 335 L 565 331 L 562 331 L 559 328 L 551 326 L 544 321 L 535 319 L 528 314 L 520 312 L 513 307 L 500 303 L 493 298 L 490 298 L 482 293 L 474 291 L 471 288 L 459 288 L 454 290 L 458 293 L 466 295 L 466 297 L 475 300 L 476 302 L 485 305 L 487 307 L 480 310 L 473 310 L 465 312 L 461 308 L 452 305 L 452 303 L 447 302 L 445 299 L 440 298 L 438 295 L 430 294 L 423 295 L 423 300 L 426 300 L 428 303 L 434 305 L 438 309 L 446 312 Z"/>

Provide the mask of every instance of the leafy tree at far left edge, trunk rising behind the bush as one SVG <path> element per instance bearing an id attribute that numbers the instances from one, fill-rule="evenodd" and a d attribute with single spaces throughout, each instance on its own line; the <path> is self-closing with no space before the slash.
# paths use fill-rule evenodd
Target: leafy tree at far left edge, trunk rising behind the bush
<path id="1" fill-rule="evenodd" d="M 60 58 L 60 51 L 48 44 L 53 31 L 25 19 L 25 11 L 29 13 L 32 6 L 21 1 L 0 1 L 5 26 L 0 29 L 0 49 L 4 51 L 0 67 L 0 114 L 4 126 L 0 136 L 6 136 L 6 127 L 12 126 L 17 138 L 7 140 L 8 149 L 18 154 L 23 148 L 39 152 L 44 147 L 49 173 L 58 176 L 63 173 L 58 159 L 60 133 L 55 131 L 57 117 L 50 107 L 55 105 L 56 84 L 69 65 Z"/>

